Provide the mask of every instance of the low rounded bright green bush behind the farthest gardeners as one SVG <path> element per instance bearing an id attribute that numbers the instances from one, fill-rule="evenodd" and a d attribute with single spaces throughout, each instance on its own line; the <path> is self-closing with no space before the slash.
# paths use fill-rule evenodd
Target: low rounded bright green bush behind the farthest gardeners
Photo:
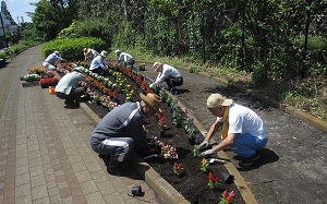
<path id="1" fill-rule="evenodd" d="M 84 59 L 83 49 L 86 47 L 101 51 L 106 49 L 106 43 L 95 37 L 53 39 L 41 47 L 41 55 L 46 58 L 58 50 L 64 59 L 77 61 Z"/>

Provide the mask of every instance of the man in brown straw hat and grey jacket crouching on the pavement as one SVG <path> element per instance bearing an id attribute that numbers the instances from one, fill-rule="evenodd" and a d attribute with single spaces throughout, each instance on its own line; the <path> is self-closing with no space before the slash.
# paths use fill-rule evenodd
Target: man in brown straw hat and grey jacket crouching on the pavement
<path id="1" fill-rule="evenodd" d="M 132 171 L 123 168 L 132 151 L 137 154 L 150 154 L 146 139 L 144 120 L 161 112 L 161 99 L 153 93 L 140 94 L 141 101 L 126 101 L 108 112 L 90 135 L 90 147 L 100 156 L 110 155 L 108 172 L 114 176 L 128 176 Z"/>

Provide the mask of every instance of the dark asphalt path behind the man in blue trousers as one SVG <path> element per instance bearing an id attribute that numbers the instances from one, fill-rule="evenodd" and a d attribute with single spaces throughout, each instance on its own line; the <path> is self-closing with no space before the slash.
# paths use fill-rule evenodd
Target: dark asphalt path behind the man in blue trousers
<path id="1" fill-rule="evenodd" d="M 326 204 L 327 203 L 327 133 L 281 109 L 274 108 L 240 91 L 226 87 L 217 80 L 179 69 L 184 84 L 178 98 L 201 123 L 209 129 L 215 117 L 206 109 L 211 93 L 220 93 L 234 103 L 253 109 L 265 122 L 268 144 L 251 168 L 240 169 L 259 204 Z M 153 79 L 157 73 L 152 63 L 143 72 Z M 218 134 L 215 136 L 219 141 Z M 226 152 L 233 158 L 232 152 Z M 238 160 L 231 159 L 235 167 Z"/>

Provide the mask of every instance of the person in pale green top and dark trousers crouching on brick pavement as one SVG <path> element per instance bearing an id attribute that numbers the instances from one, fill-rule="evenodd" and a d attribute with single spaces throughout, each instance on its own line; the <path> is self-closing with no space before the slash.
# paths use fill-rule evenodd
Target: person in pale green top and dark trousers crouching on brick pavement
<path id="1" fill-rule="evenodd" d="M 78 98 L 85 94 L 86 87 L 77 87 L 78 82 L 86 82 L 87 86 L 92 87 L 93 84 L 82 73 L 83 68 L 75 68 L 72 72 L 66 73 L 57 84 L 55 92 L 56 95 L 65 99 L 64 104 L 68 107 L 78 107 Z"/>

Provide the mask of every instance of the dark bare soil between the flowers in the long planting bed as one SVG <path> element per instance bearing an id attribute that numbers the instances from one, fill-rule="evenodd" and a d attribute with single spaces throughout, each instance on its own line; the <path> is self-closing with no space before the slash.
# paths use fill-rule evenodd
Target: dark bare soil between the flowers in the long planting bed
<path id="1" fill-rule="evenodd" d="M 108 76 L 110 81 L 114 81 L 113 77 Z M 136 87 L 136 83 L 130 81 L 133 89 L 135 91 L 135 96 L 132 101 L 140 100 L 138 93 L 142 92 L 141 88 Z M 119 94 L 117 100 L 124 101 L 123 95 Z M 98 106 L 92 101 L 85 101 L 86 105 L 99 117 L 102 118 L 108 109 L 102 106 Z M 206 172 L 201 170 L 202 158 L 193 156 L 194 145 L 189 143 L 185 134 L 184 128 L 178 128 L 172 122 L 172 111 L 171 108 L 164 103 L 161 106 L 165 119 L 166 119 L 166 134 L 165 136 L 159 136 L 158 122 L 156 117 L 146 119 L 146 130 L 147 137 L 150 139 L 153 135 L 157 136 L 160 142 L 165 144 L 170 144 L 177 148 L 179 159 L 164 159 L 164 158 L 150 158 L 146 161 L 165 179 L 167 180 L 177 191 L 179 191 L 190 203 L 218 203 L 220 201 L 221 194 L 225 190 L 228 192 L 234 191 L 234 196 L 232 203 L 244 204 L 237 185 L 233 182 L 225 182 L 222 179 L 222 173 L 228 172 L 222 163 L 210 164 Z M 186 115 L 183 110 L 180 110 L 182 118 L 185 119 Z M 196 134 L 198 131 L 196 132 Z M 143 155 L 144 156 L 144 155 Z M 181 163 L 185 169 L 185 173 L 182 176 L 174 175 L 172 167 L 174 163 Z M 208 187 L 208 172 L 211 172 L 214 177 L 219 177 L 220 184 L 216 190 L 211 190 Z"/>

